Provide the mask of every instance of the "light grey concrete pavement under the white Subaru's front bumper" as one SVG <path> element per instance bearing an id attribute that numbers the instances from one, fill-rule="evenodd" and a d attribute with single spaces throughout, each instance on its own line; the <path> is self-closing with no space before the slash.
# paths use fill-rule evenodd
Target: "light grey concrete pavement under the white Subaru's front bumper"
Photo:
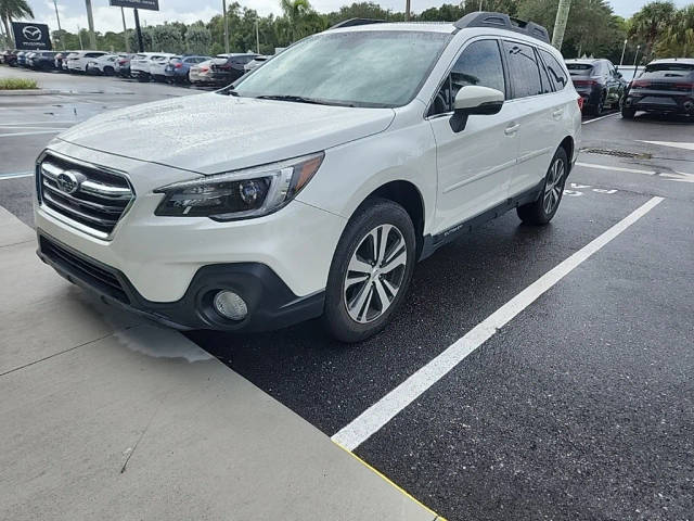
<path id="1" fill-rule="evenodd" d="M 0 208 L 0 519 L 436 514 L 181 334 L 107 308 Z"/>

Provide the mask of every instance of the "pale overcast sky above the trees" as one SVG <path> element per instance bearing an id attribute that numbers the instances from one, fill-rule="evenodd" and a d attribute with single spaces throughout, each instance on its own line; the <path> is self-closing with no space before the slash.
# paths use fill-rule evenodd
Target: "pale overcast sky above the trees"
<path id="1" fill-rule="evenodd" d="M 61 26 L 72 33 L 77 27 L 87 27 L 87 14 L 83 0 L 56 0 L 61 16 Z M 233 0 L 228 0 L 231 3 Z M 374 0 L 386 9 L 402 11 L 404 0 Z M 441 3 L 453 3 L 455 0 L 411 0 L 412 11 L 421 12 L 425 9 L 440 5 Z M 473 1 L 473 0 L 470 0 Z M 477 0 L 474 0 L 477 3 Z M 611 0 L 616 14 L 628 17 L 639 11 L 642 5 L 650 0 Z M 678 7 L 691 3 L 692 0 L 674 0 Z M 311 5 L 319 12 L 336 11 L 342 5 L 351 3 L 352 0 L 311 0 Z M 47 23 L 51 30 L 57 29 L 55 21 L 55 8 L 53 0 L 28 0 L 31 7 L 35 21 Z M 255 9 L 261 15 L 280 13 L 279 0 L 239 0 L 239 3 L 247 8 Z M 108 7 L 108 0 L 92 0 L 94 12 L 94 28 L 100 33 L 107 30 L 123 30 L 120 9 Z M 165 21 L 184 22 L 187 24 L 202 20 L 207 22 L 215 14 L 221 12 L 221 0 L 159 0 L 160 11 L 140 11 L 140 22 L 147 25 L 160 24 Z M 129 28 L 134 26 L 132 10 L 126 9 L 126 24 Z"/>

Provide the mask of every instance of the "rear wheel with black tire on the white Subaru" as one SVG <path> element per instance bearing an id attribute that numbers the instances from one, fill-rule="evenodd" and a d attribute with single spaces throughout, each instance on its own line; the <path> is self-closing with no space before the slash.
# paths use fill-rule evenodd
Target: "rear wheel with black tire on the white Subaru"
<path id="1" fill-rule="evenodd" d="M 560 147 L 550 162 L 538 200 L 516 208 L 520 220 L 532 226 L 547 225 L 552 220 L 562 202 L 567 176 L 568 157 L 564 148 Z"/>

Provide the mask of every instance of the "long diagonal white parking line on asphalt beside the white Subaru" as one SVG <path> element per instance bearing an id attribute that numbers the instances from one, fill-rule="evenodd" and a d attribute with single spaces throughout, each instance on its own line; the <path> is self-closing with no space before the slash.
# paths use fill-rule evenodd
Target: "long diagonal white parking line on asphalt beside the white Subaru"
<path id="1" fill-rule="evenodd" d="M 646 215 L 663 200 L 664 198 L 652 198 L 600 237 L 574 253 L 566 260 L 563 260 L 544 274 L 475 326 L 462 339 L 447 347 L 446 351 L 436 358 L 364 410 L 349 424 L 340 429 L 333 435 L 332 440 L 348 450 L 356 449 L 422 393 L 438 382 L 467 355 L 493 336 L 499 329 L 532 304 L 540 295 L 570 274 L 576 267 L 580 266 L 581 263 L 587 260 L 605 244 L 618 237 L 637 220 Z"/>

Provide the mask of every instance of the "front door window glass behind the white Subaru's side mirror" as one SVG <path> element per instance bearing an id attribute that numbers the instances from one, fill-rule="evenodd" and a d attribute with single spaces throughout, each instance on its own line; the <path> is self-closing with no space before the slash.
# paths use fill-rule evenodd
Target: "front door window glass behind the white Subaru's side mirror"
<path id="1" fill-rule="evenodd" d="M 489 87 L 505 96 L 503 65 L 497 40 L 478 40 L 465 48 L 434 99 L 429 115 L 452 111 L 455 94 L 466 85 Z"/>

